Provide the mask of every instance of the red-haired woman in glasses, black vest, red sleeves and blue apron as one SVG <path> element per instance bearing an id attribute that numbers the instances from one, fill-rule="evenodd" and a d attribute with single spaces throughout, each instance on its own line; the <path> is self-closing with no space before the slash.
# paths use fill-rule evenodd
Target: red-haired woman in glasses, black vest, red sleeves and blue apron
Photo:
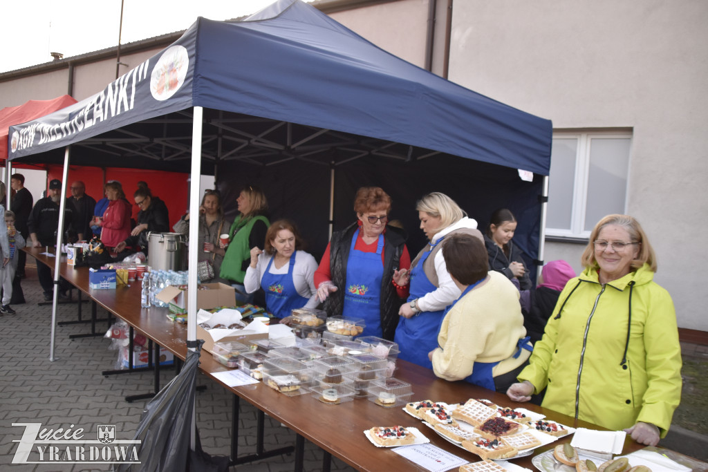
<path id="1" fill-rule="evenodd" d="M 332 235 L 315 272 L 329 316 L 363 320 L 362 335 L 387 340 L 393 339 L 399 306 L 408 296 L 408 287 L 392 283 L 394 270 L 407 272 L 411 266 L 404 237 L 386 224 L 390 209 L 391 198 L 381 188 L 360 188 L 356 224 Z"/>

